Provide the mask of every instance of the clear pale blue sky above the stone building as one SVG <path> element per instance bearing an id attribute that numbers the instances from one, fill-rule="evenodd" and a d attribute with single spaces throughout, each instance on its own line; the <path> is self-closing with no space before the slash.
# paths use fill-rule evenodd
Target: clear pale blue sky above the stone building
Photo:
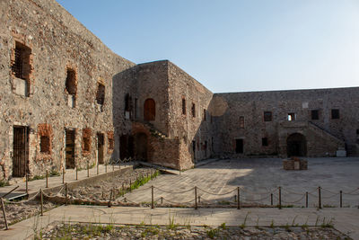
<path id="1" fill-rule="evenodd" d="M 359 85 L 358 0 L 57 0 L 135 63 L 215 93 Z"/>

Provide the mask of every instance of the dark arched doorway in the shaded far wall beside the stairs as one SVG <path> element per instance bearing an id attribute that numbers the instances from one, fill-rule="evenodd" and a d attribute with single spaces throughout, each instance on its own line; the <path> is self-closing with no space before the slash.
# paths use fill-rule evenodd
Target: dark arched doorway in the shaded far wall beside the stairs
<path id="1" fill-rule="evenodd" d="M 307 141 L 300 133 L 293 133 L 286 138 L 286 154 L 287 156 L 306 156 Z"/>

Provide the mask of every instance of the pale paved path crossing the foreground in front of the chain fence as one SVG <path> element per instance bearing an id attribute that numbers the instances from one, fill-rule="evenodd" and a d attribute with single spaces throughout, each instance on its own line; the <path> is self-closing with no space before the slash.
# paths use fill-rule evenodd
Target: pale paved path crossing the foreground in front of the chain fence
<path id="1" fill-rule="evenodd" d="M 247 219 L 246 219 L 247 218 Z M 0 231 L 0 239 L 25 239 L 49 223 L 88 222 L 112 224 L 168 225 L 170 219 L 185 226 L 320 226 L 330 219 L 334 227 L 359 239 L 359 209 L 149 209 L 125 207 L 62 206 Z"/>

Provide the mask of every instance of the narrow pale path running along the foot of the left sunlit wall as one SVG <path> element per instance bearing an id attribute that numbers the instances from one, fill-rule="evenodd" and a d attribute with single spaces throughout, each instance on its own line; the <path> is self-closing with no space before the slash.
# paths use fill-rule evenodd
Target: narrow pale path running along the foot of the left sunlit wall
<path id="1" fill-rule="evenodd" d="M 132 167 L 132 166 L 133 163 L 121 164 L 121 166 L 114 165 L 114 167 L 112 165 L 108 165 L 107 172 L 109 173 L 112 172 L 113 170 L 118 171 L 119 169 L 125 169 L 127 167 Z M 105 173 L 106 173 L 105 165 L 99 165 L 99 174 L 97 173 L 97 167 L 93 167 L 92 169 L 89 170 L 90 178 Z M 65 182 L 67 183 L 77 182 L 88 178 L 89 177 L 87 177 L 87 170 L 78 171 L 77 180 L 76 180 L 76 171 L 74 169 L 67 169 L 65 173 Z M 19 188 L 16 191 L 13 191 L 11 195 L 6 196 L 6 198 L 26 193 L 25 178 L 17 178 L 16 181 L 17 182 L 13 182 L 13 184 L 10 186 L 0 187 L 0 197 L 3 196 L 4 193 L 13 190 L 13 188 L 16 186 L 19 186 Z M 48 189 L 56 188 L 61 185 L 63 185 L 62 175 L 48 177 Z M 46 179 L 30 181 L 28 183 L 29 195 L 35 194 L 36 192 L 39 191 L 40 188 L 46 189 Z"/>

